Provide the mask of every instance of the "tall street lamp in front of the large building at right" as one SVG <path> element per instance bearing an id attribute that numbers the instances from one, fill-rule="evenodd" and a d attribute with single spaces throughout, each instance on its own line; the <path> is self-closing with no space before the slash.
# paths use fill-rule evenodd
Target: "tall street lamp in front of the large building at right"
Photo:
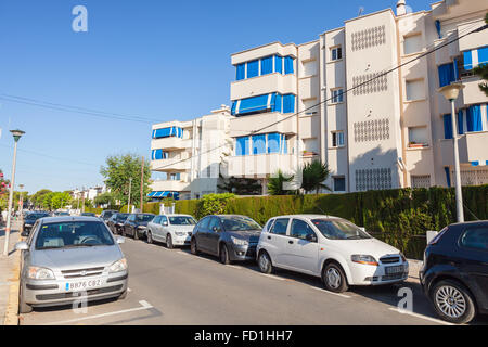
<path id="1" fill-rule="evenodd" d="M 454 100 L 458 99 L 459 91 L 464 89 L 462 83 L 451 83 L 439 88 L 437 91 L 451 102 L 451 123 L 452 123 L 452 139 L 454 140 L 454 175 L 455 175 L 455 209 L 458 213 L 458 222 L 464 221 L 463 210 L 463 192 L 461 190 L 461 169 L 459 166 L 459 150 L 458 150 L 458 127 L 455 125 L 455 106 Z"/>

